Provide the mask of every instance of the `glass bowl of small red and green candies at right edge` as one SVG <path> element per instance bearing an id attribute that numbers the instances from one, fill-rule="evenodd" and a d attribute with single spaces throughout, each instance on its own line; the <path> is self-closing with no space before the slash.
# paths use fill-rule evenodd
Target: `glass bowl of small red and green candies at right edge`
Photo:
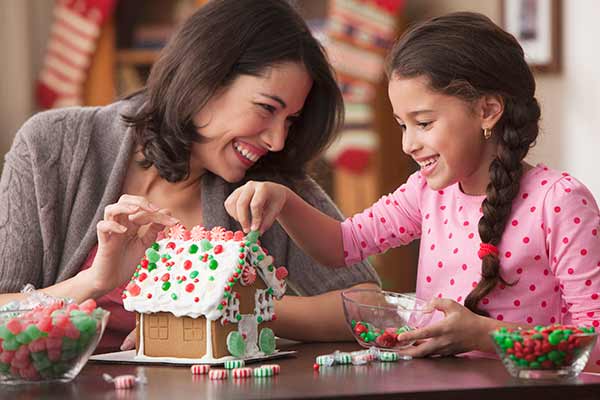
<path id="1" fill-rule="evenodd" d="M 585 368 L 598 332 L 593 327 L 500 328 L 490 333 L 496 352 L 515 378 L 572 378 Z"/>

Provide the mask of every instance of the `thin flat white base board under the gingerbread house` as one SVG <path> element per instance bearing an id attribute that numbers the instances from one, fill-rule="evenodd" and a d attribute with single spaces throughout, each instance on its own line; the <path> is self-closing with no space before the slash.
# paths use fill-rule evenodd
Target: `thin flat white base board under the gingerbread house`
<path id="1" fill-rule="evenodd" d="M 276 351 L 275 353 L 268 356 L 254 356 L 247 357 L 243 360 L 247 363 L 262 362 L 275 358 L 287 357 L 296 354 L 296 350 L 288 351 Z M 113 364 L 171 364 L 171 365 L 193 365 L 193 364 L 210 364 L 210 365 L 223 365 L 224 360 L 206 362 L 188 358 L 176 359 L 167 357 L 144 357 L 144 359 L 135 358 L 135 350 L 118 351 L 116 353 L 96 354 L 90 357 L 90 361 L 113 363 Z"/>

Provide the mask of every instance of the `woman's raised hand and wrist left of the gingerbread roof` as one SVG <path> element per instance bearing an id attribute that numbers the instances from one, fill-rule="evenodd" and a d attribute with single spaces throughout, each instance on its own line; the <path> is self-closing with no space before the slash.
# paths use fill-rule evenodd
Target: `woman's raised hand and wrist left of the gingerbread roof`
<path id="1" fill-rule="evenodd" d="M 98 222 L 98 251 L 89 273 L 96 290 L 108 292 L 133 275 L 144 251 L 165 226 L 179 221 L 144 197 L 122 195 Z"/>

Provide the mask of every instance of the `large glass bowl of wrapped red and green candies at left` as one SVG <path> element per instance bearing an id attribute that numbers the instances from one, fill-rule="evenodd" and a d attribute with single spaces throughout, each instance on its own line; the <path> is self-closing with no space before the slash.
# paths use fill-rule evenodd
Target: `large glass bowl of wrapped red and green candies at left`
<path id="1" fill-rule="evenodd" d="M 109 312 L 94 300 L 0 312 L 0 384 L 69 382 L 92 355 Z"/>

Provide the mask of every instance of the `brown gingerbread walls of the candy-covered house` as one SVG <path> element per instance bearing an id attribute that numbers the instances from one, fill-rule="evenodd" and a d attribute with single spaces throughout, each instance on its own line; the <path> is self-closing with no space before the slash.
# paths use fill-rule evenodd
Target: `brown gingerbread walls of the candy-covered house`
<path id="1" fill-rule="evenodd" d="M 261 279 L 252 286 L 237 284 L 233 291 L 240 295 L 240 314 L 253 314 L 255 293 L 266 289 Z M 176 317 L 171 313 L 159 312 L 144 315 L 143 334 L 140 337 L 140 316 L 136 313 L 136 350 L 140 340 L 144 341 L 144 355 L 149 357 L 201 358 L 206 354 L 206 319 L 204 317 Z M 269 326 L 268 322 L 259 325 L 260 329 Z M 237 324 L 221 324 L 220 320 L 211 325 L 213 357 L 229 356 L 227 335 L 237 330 Z"/>

